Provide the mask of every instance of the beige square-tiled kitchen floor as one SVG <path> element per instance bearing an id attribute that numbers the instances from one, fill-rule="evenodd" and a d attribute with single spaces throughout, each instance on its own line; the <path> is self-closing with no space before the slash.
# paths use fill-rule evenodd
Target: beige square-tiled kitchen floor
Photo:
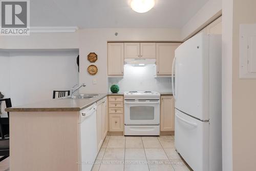
<path id="1" fill-rule="evenodd" d="M 174 136 L 107 136 L 92 171 L 190 171 L 174 148 Z"/>

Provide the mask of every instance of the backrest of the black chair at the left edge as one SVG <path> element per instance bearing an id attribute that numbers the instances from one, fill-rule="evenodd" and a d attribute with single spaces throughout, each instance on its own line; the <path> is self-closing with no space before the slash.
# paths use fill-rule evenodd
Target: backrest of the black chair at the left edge
<path id="1" fill-rule="evenodd" d="M 12 107 L 11 99 L 0 99 L 0 101 L 5 101 L 6 107 Z M 5 139 L 5 135 L 9 134 L 9 112 L 7 112 L 7 118 L 1 118 L 0 116 L 0 134 L 2 139 Z"/>

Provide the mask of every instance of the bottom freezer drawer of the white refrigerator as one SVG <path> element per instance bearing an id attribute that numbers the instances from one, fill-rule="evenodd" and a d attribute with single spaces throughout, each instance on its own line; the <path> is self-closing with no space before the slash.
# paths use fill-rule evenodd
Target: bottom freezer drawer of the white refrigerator
<path id="1" fill-rule="evenodd" d="M 195 171 L 209 171 L 209 123 L 175 110 L 175 148 Z"/>

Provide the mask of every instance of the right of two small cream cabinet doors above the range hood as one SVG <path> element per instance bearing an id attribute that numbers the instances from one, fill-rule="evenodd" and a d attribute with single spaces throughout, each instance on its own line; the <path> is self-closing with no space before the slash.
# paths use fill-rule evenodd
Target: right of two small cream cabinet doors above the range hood
<path id="1" fill-rule="evenodd" d="M 155 59 L 156 43 L 140 43 L 140 58 Z"/>

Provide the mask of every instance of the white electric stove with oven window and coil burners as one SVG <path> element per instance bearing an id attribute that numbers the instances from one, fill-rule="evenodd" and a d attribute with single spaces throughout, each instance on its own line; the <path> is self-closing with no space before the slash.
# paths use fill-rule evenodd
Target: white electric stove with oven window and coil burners
<path id="1" fill-rule="evenodd" d="M 124 92 L 124 135 L 160 135 L 160 93 Z"/>

